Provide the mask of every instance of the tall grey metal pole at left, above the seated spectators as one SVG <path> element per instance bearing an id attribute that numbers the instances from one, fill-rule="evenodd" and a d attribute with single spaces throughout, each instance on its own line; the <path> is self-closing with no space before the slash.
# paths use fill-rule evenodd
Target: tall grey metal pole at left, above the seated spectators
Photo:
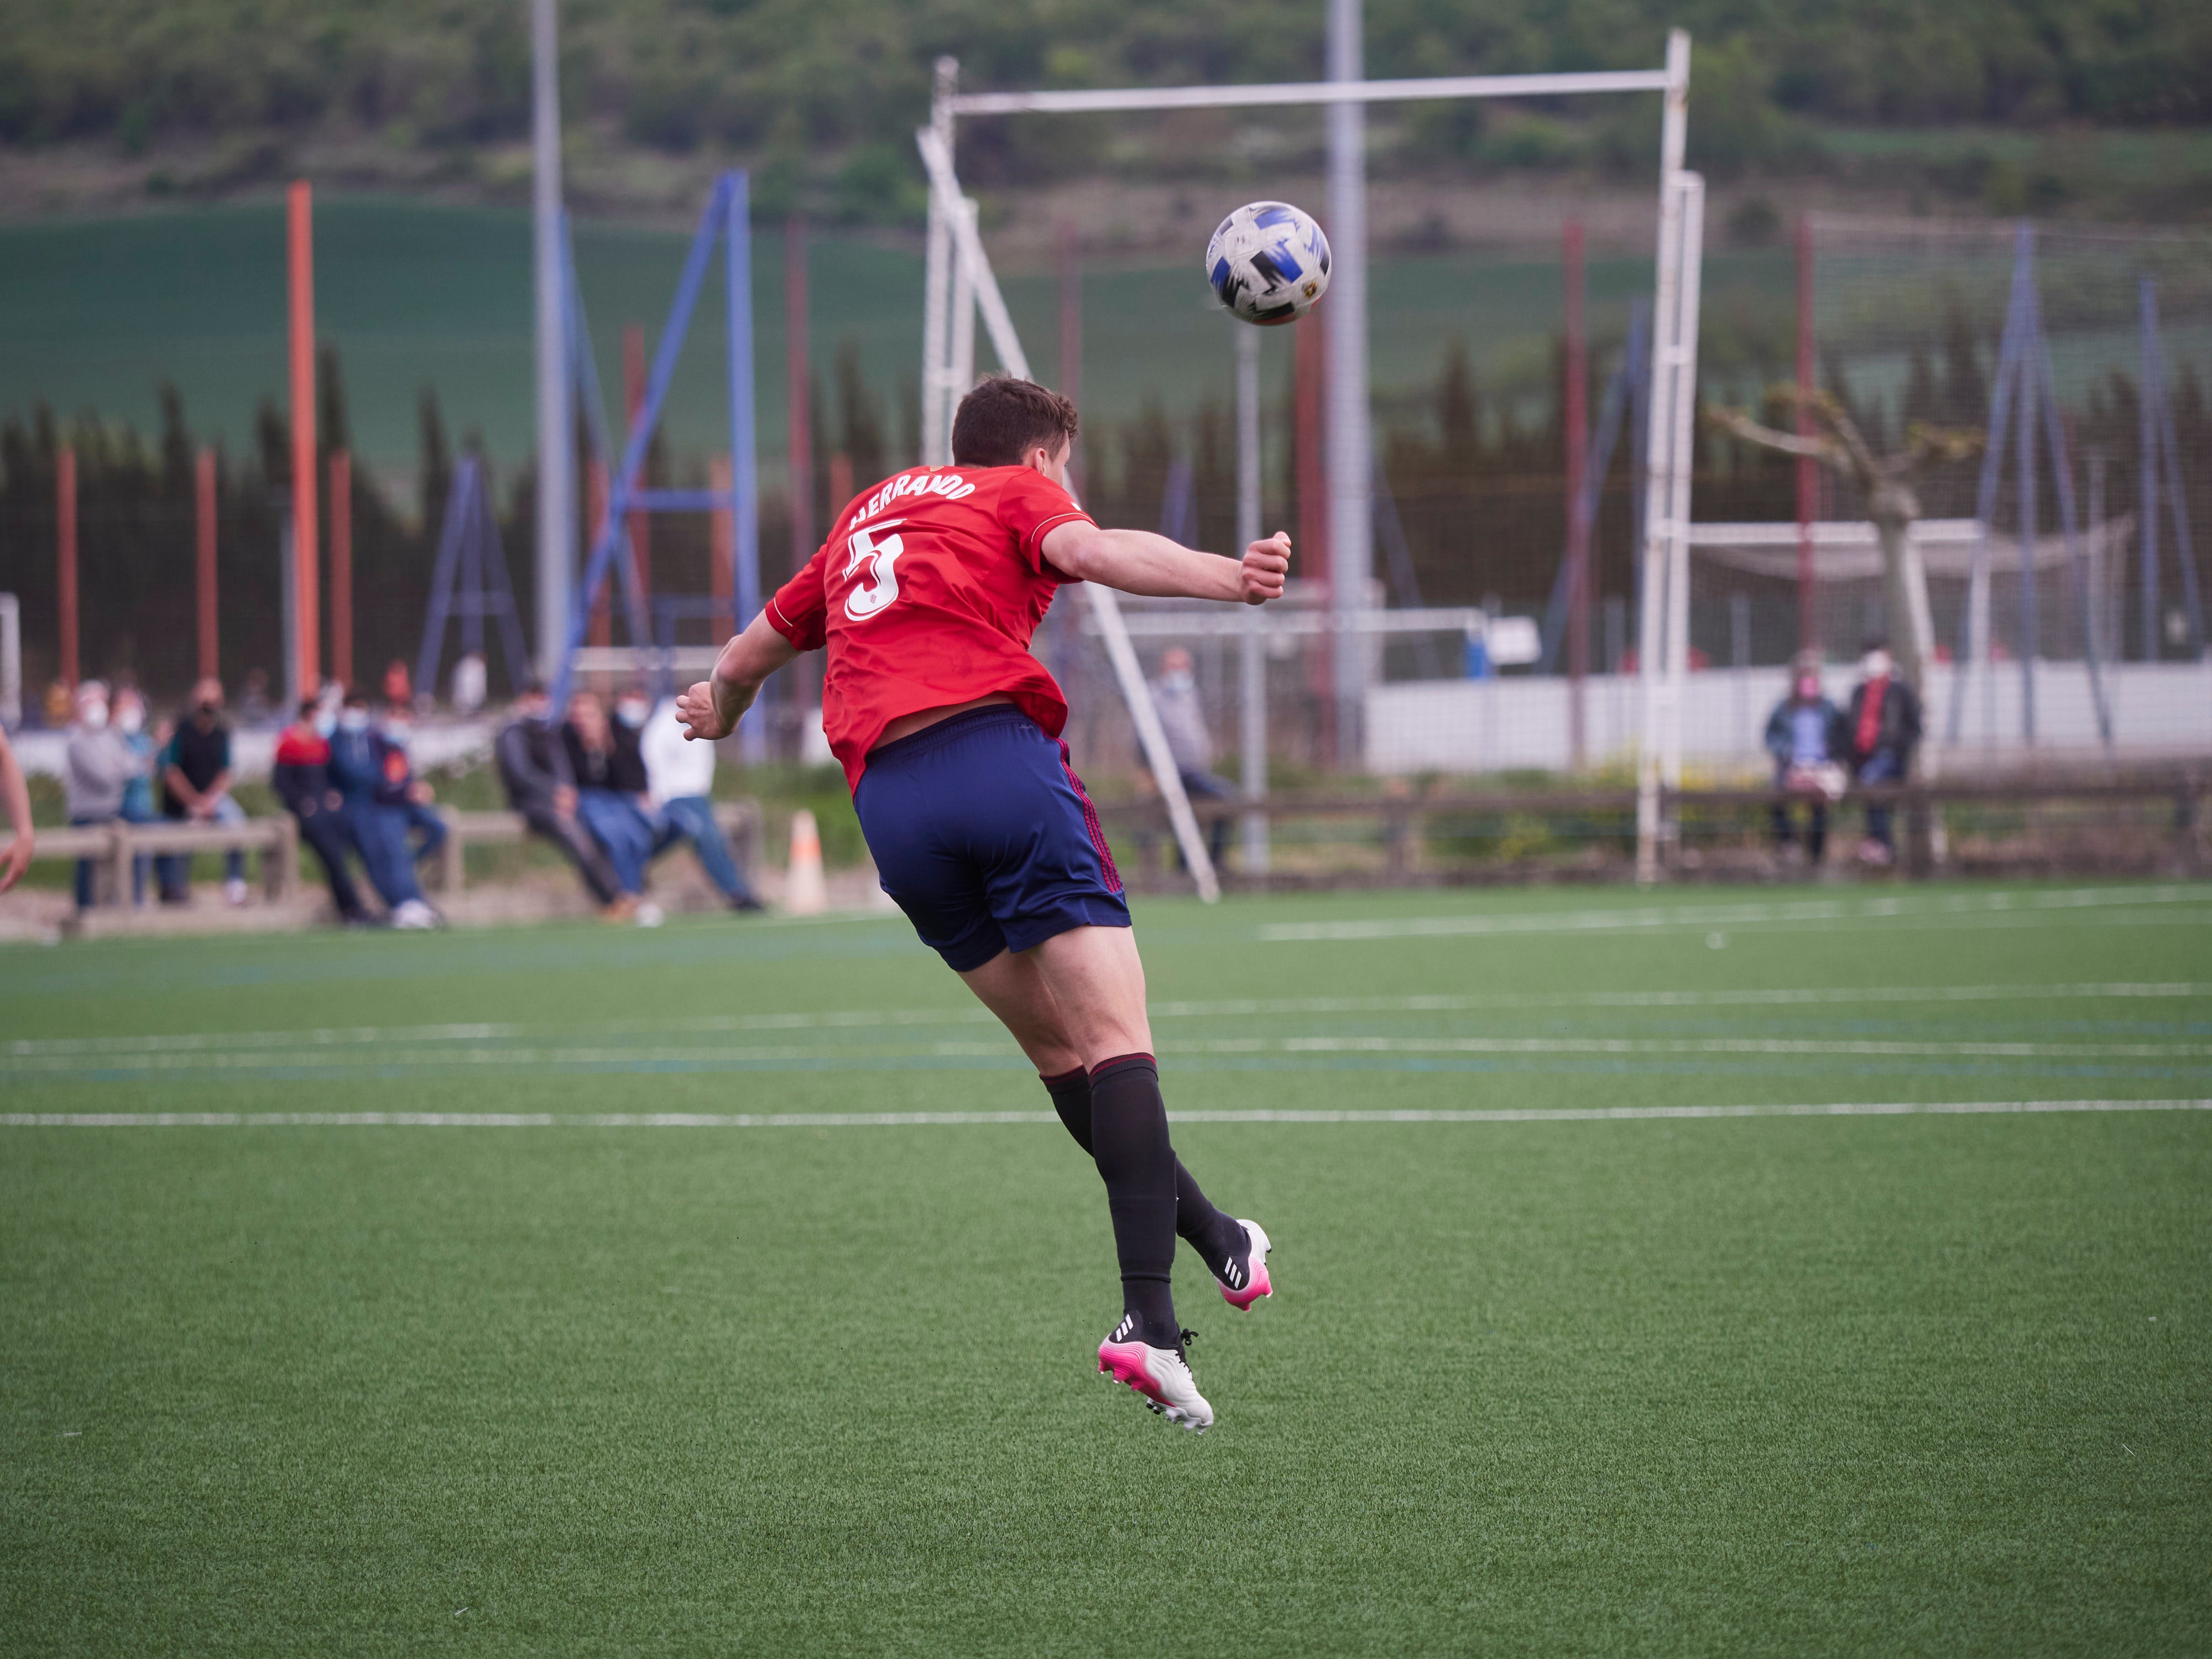
<path id="1" fill-rule="evenodd" d="M 538 675 L 568 655 L 575 580 L 575 416 L 562 325 L 560 53 L 553 0 L 531 0 L 531 232 L 538 296 Z"/>

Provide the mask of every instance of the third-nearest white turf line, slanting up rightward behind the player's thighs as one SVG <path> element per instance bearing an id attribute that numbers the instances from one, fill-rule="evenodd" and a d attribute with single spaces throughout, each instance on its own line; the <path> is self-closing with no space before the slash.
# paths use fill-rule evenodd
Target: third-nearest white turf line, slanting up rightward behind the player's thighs
<path id="1" fill-rule="evenodd" d="M 1484 1009 L 1752 1009 L 1849 1006 L 1856 1002 L 2077 1002 L 2135 998 L 2212 998 L 2212 982 L 2104 982 L 2104 984 L 1880 984 L 1880 987 L 1759 987 L 1747 991 L 1526 991 L 1396 998 L 1225 998 L 1214 1002 L 1155 1002 L 1155 1020 L 1228 1020 L 1267 1013 L 1480 1013 Z M 573 1037 L 648 1037 L 714 1031 L 872 1031 L 880 1026 L 995 1024 L 989 1009 L 843 1009 L 827 1013 L 710 1013 L 675 1020 L 613 1020 L 597 1026 L 560 1026 Z M 343 1048 L 392 1042 L 515 1042 L 551 1026 L 434 1024 L 434 1026 L 319 1026 L 301 1031 L 188 1031 L 117 1037 L 18 1037 L 0 1055 L 128 1055 L 250 1048 Z"/>

